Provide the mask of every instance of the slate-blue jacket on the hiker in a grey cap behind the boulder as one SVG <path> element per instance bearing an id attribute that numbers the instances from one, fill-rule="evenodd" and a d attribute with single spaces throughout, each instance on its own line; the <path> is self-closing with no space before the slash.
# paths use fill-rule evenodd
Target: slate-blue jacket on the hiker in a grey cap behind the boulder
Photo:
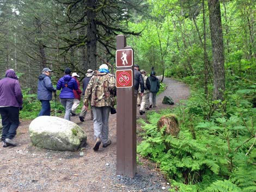
<path id="1" fill-rule="evenodd" d="M 41 74 L 38 79 L 38 100 L 52 100 L 52 91 L 56 88 L 52 86 L 51 77 Z"/>

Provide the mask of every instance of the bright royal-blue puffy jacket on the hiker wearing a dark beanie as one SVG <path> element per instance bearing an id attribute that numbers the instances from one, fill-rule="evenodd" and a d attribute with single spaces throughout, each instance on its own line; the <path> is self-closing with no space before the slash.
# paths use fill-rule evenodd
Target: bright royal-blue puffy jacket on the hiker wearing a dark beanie
<path id="1" fill-rule="evenodd" d="M 68 86 L 65 86 L 67 84 Z M 57 82 L 57 90 L 62 89 L 60 92 L 60 98 L 75 98 L 74 90 L 78 90 L 76 79 L 72 78 L 70 75 L 64 75 Z"/>

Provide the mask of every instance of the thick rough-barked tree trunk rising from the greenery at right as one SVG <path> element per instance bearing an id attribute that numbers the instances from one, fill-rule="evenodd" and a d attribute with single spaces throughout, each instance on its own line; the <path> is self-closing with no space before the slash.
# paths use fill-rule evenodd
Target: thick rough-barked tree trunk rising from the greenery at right
<path id="1" fill-rule="evenodd" d="M 214 100 L 224 100 L 225 71 L 224 48 L 219 0 L 208 0 L 209 24 L 211 30 L 212 65 L 214 68 Z"/>

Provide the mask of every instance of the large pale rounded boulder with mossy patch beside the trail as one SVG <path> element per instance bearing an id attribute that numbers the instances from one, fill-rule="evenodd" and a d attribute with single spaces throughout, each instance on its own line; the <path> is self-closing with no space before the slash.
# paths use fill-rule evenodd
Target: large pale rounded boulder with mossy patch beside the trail
<path id="1" fill-rule="evenodd" d="M 33 145 L 59 151 L 76 151 L 87 140 L 80 126 L 55 116 L 36 117 L 29 125 L 29 135 Z"/>

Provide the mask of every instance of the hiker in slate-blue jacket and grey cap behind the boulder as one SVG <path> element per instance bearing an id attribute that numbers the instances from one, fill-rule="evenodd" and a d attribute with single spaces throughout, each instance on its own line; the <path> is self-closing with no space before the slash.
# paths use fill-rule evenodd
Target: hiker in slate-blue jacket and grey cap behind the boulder
<path id="1" fill-rule="evenodd" d="M 42 69 L 42 74 L 38 77 L 38 100 L 41 102 L 41 110 L 38 116 L 51 115 L 52 92 L 56 92 L 56 88 L 52 86 L 51 72 L 49 68 Z"/>

